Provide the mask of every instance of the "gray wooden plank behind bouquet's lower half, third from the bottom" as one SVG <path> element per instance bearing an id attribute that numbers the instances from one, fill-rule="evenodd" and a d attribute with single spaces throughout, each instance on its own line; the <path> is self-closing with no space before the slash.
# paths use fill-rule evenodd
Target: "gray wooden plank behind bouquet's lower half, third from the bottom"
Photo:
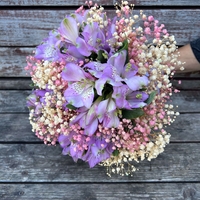
<path id="1" fill-rule="evenodd" d="M 181 114 L 166 130 L 171 142 L 200 142 L 199 124 L 200 114 Z M 43 143 L 31 131 L 28 114 L 0 114 L 0 127 L 0 142 Z"/>

